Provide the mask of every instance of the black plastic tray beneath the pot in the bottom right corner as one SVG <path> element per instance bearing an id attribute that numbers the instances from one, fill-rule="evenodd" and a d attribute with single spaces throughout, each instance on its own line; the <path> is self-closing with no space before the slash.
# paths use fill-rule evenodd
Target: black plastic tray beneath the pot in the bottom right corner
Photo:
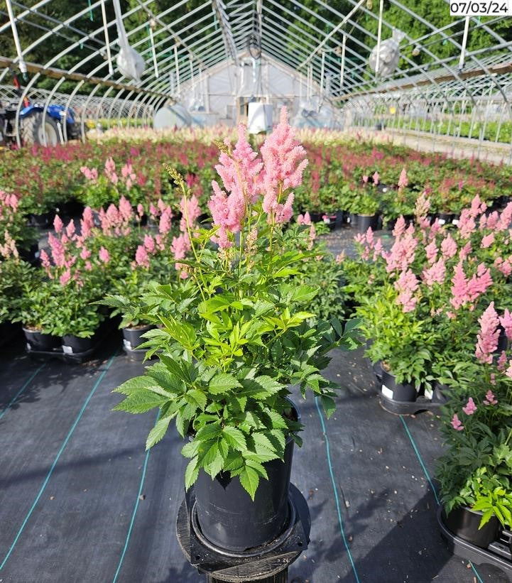
<path id="1" fill-rule="evenodd" d="M 441 529 L 442 538 L 448 543 L 448 547 L 457 557 L 462 557 L 474 563 L 475 565 L 494 565 L 503 570 L 512 581 L 512 552 L 511 541 L 512 533 L 509 530 L 503 530 L 499 540 L 491 543 L 486 549 L 477 547 L 462 540 L 448 530 L 442 521 L 442 507 L 437 508 L 437 522 Z"/>

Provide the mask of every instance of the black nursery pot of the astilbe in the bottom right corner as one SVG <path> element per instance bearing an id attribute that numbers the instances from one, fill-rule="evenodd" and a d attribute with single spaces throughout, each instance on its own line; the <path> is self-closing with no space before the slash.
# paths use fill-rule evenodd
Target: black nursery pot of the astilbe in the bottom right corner
<path id="1" fill-rule="evenodd" d="M 474 511 L 468 506 L 459 506 L 454 508 L 450 514 L 442 514 L 443 521 L 449 530 L 462 540 L 468 543 L 486 549 L 489 545 L 499 538 L 501 525 L 498 518 L 493 516 L 491 520 L 484 524 L 479 530 L 482 513 Z"/>

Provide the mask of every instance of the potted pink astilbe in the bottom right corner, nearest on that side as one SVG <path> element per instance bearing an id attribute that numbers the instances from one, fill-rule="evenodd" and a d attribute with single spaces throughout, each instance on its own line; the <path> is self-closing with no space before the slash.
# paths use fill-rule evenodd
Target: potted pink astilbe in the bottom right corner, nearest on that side
<path id="1" fill-rule="evenodd" d="M 479 323 L 476 359 L 461 362 L 450 383 L 437 479 L 447 528 L 486 548 L 512 528 L 512 360 L 496 355 L 500 324 L 512 339 L 512 316 L 499 317 L 491 303 Z"/>

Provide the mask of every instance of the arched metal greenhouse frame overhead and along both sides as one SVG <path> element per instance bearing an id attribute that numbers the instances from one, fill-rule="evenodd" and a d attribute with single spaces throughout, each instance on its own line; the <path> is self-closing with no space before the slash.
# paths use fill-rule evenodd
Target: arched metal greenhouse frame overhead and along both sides
<path id="1" fill-rule="evenodd" d="M 114 64 L 119 27 L 106 10 L 112 1 L 117 0 L 91 0 L 60 21 L 50 16 L 53 0 L 33 6 L 6 0 L 0 34 L 12 38 L 13 50 L 0 57 L 0 100 L 16 102 L 16 130 L 25 97 L 43 104 L 43 114 L 50 103 L 72 108 L 82 139 L 87 124 L 102 118 L 107 126 L 123 120 L 147 125 L 164 104 L 183 102 L 196 91 L 208 96 L 209 77 L 222 65 L 231 67 L 225 92 L 236 99 L 244 60 L 258 59 L 280 64 L 297 81 L 295 109 L 315 97 L 315 107 L 328 105 L 344 129 L 386 127 L 390 134 L 412 136 L 418 143 L 425 136 L 432 144 L 440 138 L 452 144 L 466 138 L 476 141 L 478 156 L 494 143 L 512 158 L 512 41 L 497 31 L 499 18 L 453 18 L 436 28 L 399 0 L 388 0 L 386 10 L 383 0 L 375 10 L 371 0 L 346 0 L 346 13 L 337 9 L 339 3 L 322 0 L 207 0 L 195 2 L 190 11 L 185 11 L 187 0 L 159 11 L 154 0 L 135 0 L 122 14 L 122 23 L 146 68 L 133 80 Z M 379 74 L 380 49 L 393 29 L 388 9 L 414 18 L 427 33 L 419 38 L 403 34 L 399 65 L 384 77 Z M 374 23 L 372 30 L 361 26 L 361 15 Z M 97 23 L 92 32 L 81 28 L 84 18 Z M 18 26 L 38 30 L 31 45 L 21 46 Z M 476 30 L 489 39 L 489 48 L 468 50 L 468 31 Z M 66 41 L 65 48 L 47 62 L 30 62 L 34 51 L 48 47 L 55 36 Z M 453 56 L 437 56 L 443 44 L 452 48 Z M 376 72 L 368 65 L 374 49 Z M 427 60 L 424 65 L 414 60 L 419 53 Z M 77 54 L 75 64 L 62 70 L 62 60 Z M 21 94 L 8 84 L 12 67 L 31 73 Z M 43 78 L 46 87 L 48 80 L 53 82 L 51 89 L 38 88 Z M 61 90 L 65 81 L 75 83 L 69 94 Z M 205 109 L 209 113 L 209 99 Z"/>

